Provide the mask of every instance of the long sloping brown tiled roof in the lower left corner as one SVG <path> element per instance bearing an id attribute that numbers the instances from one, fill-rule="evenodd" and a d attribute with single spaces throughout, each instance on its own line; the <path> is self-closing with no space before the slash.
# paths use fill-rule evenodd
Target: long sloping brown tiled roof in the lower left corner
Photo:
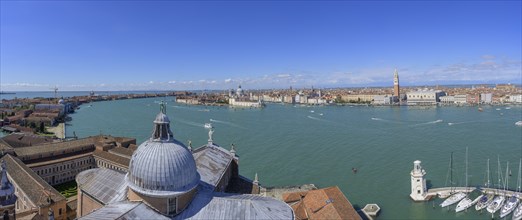
<path id="1" fill-rule="evenodd" d="M 7 173 L 14 182 L 36 206 L 47 206 L 50 204 L 48 197 L 53 202 L 65 200 L 56 189 L 45 182 L 18 158 L 11 155 L 2 157 L 6 162 Z"/>

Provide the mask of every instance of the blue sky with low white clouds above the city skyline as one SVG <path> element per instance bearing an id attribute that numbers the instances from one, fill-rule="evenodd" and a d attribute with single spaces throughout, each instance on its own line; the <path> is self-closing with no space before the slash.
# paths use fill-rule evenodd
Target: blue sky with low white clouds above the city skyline
<path id="1" fill-rule="evenodd" d="M 521 83 L 520 1 L 1 1 L 1 90 Z"/>

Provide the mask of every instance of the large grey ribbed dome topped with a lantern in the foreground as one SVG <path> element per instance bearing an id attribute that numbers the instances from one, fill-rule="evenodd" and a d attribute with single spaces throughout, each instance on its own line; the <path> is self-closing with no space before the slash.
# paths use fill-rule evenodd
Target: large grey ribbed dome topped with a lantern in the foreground
<path id="1" fill-rule="evenodd" d="M 152 138 L 132 154 L 125 177 L 133 190 L 155 196 L 187 192 L 199 183 L 200 176 L 192 153 L 175 140 L 170 120 L 162 109 L 154 120 Z"/>

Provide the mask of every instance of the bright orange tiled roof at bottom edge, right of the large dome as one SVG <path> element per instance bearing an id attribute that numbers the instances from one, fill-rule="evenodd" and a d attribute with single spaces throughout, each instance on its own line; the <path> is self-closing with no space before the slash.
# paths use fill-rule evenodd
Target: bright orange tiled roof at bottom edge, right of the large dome
<path id="1" fill-rule="evenodd" d="M 361 219 L 337 187 L 283 194 L 297 219 Z"/>

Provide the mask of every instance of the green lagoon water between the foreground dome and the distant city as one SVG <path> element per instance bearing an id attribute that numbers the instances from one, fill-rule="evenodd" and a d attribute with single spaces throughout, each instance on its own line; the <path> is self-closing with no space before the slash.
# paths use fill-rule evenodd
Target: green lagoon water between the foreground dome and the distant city
<path id="1" fill-rule="evenodd" d="M 67 135 L 103 133 L 135 137 L 139 144 L 150 137 L 161 100 L 164 98 L 82 105 L 71 115 Z M 445 186 L 451 152 L 455 176 L 464 185 L 466 147 L 471 185 L 484 183 L 488 158 L 496 177 L 497 155 L 504 171 L 506 162 L 511 164 L 512 188 L 517 181 L 522 127 L 514 123 L 522 120 L 521 106 L 498 107 L 500 110 L 485 106 L 479 112 L 476 107 L 269 104 L 264 109 L 241 110 L 179 105 L 171 98 L 166 101 L 176 139 L 192 140 L 193 146 L 205 144 L 208 133 L 203 125 L 212 119 L 215 142 L 227 149 L 236 145 L 242 175 L 253 178 L 257 172 L 264 186 L 337 185 L 355 206 L 379 204 L 379 219 L 491 218 L 474 210 L 455 214 L 454 206 L 450 211 L 441 209 L 440 199 L 412 202 L 409 172 L 417 159 L 422 161 L 431 187 Z M 353 174 L 352 167 L 359 172 Z"/>

